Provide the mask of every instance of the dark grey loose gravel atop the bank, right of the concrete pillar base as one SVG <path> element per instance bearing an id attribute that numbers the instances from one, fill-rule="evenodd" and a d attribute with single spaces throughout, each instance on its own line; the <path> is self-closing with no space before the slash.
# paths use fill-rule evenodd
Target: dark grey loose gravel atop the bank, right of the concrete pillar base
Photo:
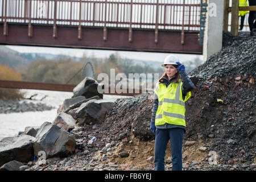
<path id="1" fill-rule="evenodd" d="M 256 38 L 248 32 L 232 36 L 224 32 L 222 49 L 189 73 L 201 80 L 237 74 L 255 75 Z"/>

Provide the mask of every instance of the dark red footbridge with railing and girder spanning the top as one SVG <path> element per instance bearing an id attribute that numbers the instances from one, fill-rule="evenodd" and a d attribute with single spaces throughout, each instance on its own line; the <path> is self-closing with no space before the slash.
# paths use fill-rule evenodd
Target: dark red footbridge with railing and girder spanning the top
<path id="1" fill-rule="evenodd" d="M 0 0 L 0 44 L 202 54 L 200 0 Z"/>

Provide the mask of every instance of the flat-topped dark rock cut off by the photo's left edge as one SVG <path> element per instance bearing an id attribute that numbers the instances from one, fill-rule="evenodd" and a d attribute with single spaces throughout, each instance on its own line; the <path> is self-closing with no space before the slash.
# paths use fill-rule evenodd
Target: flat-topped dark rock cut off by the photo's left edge
<path id="1" fill-rule="evenodd" d="M 3 138 L 0 141 L 0 166 L 11 160 L 17 160 L 19 162 L 33 160 L 34 142 L 35 138 L 30 135 Z"/>

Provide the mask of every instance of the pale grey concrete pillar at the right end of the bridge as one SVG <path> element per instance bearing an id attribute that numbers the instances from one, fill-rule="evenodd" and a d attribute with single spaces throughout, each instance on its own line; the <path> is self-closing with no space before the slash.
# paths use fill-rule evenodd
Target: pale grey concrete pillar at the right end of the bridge
<path id="1" fill-rule="evenodd" d="M 222 48 L 223 0 L 208 0 L 204 31 L 203 61 Z"/>

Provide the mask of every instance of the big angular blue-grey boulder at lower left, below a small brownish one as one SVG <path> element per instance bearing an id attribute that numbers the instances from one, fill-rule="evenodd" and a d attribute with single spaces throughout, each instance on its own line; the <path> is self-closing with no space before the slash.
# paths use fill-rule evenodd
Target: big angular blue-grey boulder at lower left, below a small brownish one
<path id="1" fill-rule="evenodd" d="M 44 151 L 46 159 L 54 156 L 67 156 L 75 151 L 75 147 L 76 141 L 68 131 L 53 123 L 45 122 L 36 134 L 34 154 L 38 156 L 39 151 Z"/>

